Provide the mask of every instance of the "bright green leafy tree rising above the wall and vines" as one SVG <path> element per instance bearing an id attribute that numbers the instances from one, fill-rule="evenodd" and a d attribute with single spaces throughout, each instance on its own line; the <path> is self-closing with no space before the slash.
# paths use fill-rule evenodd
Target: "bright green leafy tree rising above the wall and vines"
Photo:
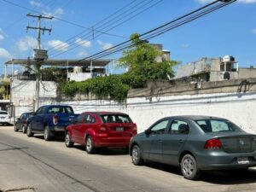
<path id="1" fill-rule="evenodd" d="M 168 79 L 172 78 L 174 72 L 172 67 L 177 65 L 178 61 L 156 61 L 157 57 L 163 58 L 160 50 L 141 40 L 137 33 L 131 34 L 133 47 L 123 52 L 119 59 L 118 67 L 128 68 L 128 73 L 134 75 L 143 75 L 146 79 Z"/>

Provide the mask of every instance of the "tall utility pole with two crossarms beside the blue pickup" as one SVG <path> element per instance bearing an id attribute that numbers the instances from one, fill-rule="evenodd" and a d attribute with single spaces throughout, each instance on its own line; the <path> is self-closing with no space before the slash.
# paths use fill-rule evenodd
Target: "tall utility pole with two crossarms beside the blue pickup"
<path id="1" fill-rule="evenodd" d="M 38 18 L 38 26 L 26 26 L 26 32 L 28 31 L 28 29 L 33 29 L 33 30 L 38 30 L 38 47 L 37 49 L 34 49 L 34 60 L 35 62 L 35 70 L 36 70 L 36 93 L 35 93 L 35 111 L 39 108 L 39 92 L 40 92 L 40 67 L 41 67 L 41 63 L 42 61 L 44 61 L 44 59 L 47 59 L 47 51 L 44 49 L 41 49 L 41 31 L 44 32 L 51 32 L 51 28 L 45 28 L 45 27 L 41 27 L 41 19 L 46 19 L 46 20 L 52 20 L 53 17 L 48 17 L 48 16 L 43 16 L 43 15 L 30 15 L 27 14 L 26 16 L 28 17 L 35 17 Z"/>

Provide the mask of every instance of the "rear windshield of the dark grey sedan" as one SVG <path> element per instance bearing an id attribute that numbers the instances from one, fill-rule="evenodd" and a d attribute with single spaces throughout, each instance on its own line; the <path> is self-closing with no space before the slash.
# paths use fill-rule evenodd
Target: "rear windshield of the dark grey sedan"
<path id="1" fill-rule="evenodd" d="M 226 119 L 201 119 L 195 122 L 201 127 L 201 130 L 205 132 L 242 132 L 241 128 Z"/>

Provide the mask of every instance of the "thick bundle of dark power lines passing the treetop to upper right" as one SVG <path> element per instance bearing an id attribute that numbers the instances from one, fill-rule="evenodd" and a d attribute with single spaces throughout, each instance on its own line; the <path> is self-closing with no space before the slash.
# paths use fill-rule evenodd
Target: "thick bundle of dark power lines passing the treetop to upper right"
<path id="1" fill-rule="evenodd" d="M 234 3 L 234 2 L 236 2 L 236 0 L 224 1 L 222 3 L 219 3 L 219 2 L 220 1 L 215 1 L 215 2 L 209 3 L 206 6 L 201 7 L 200 9 L 196 9 L 195 11 L 192 11 L 187 15 L 183 15 L 183 16 L 177 18 L 176 20 L 172 20 L 170 22 L 167 22 L 164 25 L 161 25 L 161 26 L 158 26 L 158 27 L 154 28 L 153 30 L 150 30 L 148 32 L 144 32 L 142 35 L 139 36 L 139 38 L 143 38 L 144 36 L 146 36 L 144 39 L 155 38 L 155 37 L 163 34 L 164 32 L 168 32 L 168 31 L 170 31 L 174 28 L 177 28 L 178 26 L 183 26 L 184 24 L 186 24 L 186 23 L 188 23 L 192 20 L 196 20 L 196 19 L 200 18 L 201 16 L 207 15 L 207 14 L 211 13 L 212 11 L 220 9 L 220 8 L 230 4 L 230 3 Z M 213 6 L 211 8 L 211 6 L 214 5 L 215 3 L 219 3 L 219 4 L 217 6 L 215 6 L 215 7 Z M 209 9 L 207 9 L 207 8 L 209 8 Z M 207 9 L 207 10 L 200 12 L 203 9 Z M 198 12 L 199 12 L 199 14 L 197 14 Z M 189 16 L 191 16 L 191 17 L 189 17 Z M 189 17 L 189 18 L 187 19 L 187 17 Z M 181 21 L 179 21 L 179 20 L 181 20 Z M 171 24 L 173 24 L 173 26 L 170 26 Z M 133 45 L 135 45 L 135 44 L 131 44 L 131 40 L 128 40 L 128 41 L 125 41 L 121 44 L 117 44 L 117 45 L 113 46 L 110 49 L 106 49 L 106 50 L 100 51 L 100 52 L 98 52 L 94 55 L 90 55 L 88 57 L 85 57 L 84 59 L 82 59 L 80 61 L 96 60 L 96 59 L 102 58 L 103 56 L 112 55 L 113 53 L 119 52 L 120 50 L 132 47 Z"/>

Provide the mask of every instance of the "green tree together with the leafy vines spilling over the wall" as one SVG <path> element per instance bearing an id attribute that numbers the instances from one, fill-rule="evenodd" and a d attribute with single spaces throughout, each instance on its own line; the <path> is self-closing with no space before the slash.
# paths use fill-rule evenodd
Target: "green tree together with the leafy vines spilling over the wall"
<path id="1" fill-rule="evenodd" d="M 172 67 L 177 61 L 160 61 L 162 53 L 154 46 L 139 39 L 139 34 L 131 35 L 133 47 L 123 52 L 119 59 L 118 67 L 128 68 L 128 72 L 108 77 L 97 77 L 83 82 L 67 82 L 61 87 L 65 96 L 73 97 L 77 94 L 96 96 L 96 99 L 125 102 L 128 90 L 131 88 L 143 88 L 148 79 L 168 79 L 173 77 Z"/>

